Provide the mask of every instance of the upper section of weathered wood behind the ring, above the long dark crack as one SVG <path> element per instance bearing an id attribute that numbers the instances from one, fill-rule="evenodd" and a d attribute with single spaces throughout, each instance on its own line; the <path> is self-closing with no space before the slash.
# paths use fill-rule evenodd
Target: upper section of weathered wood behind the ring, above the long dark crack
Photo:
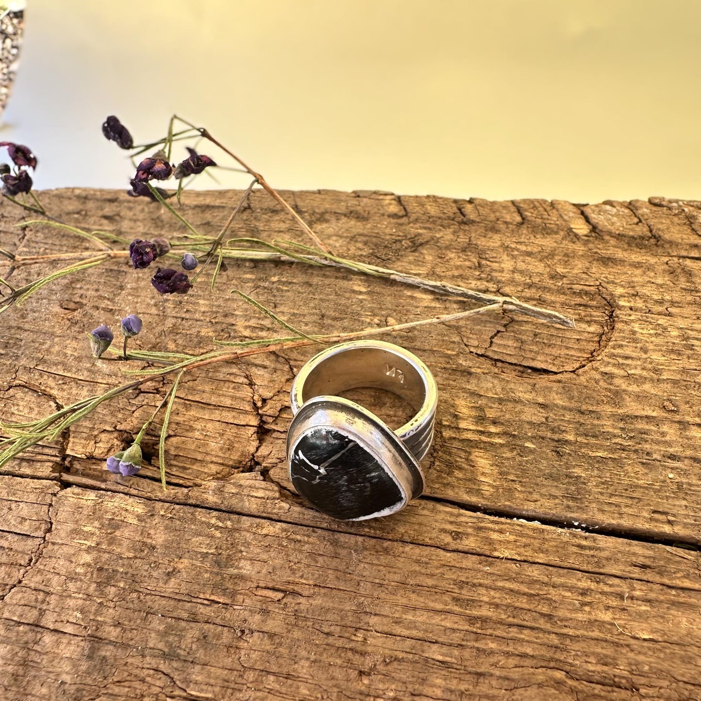
<path id="1" fill-rule="evenodd" d="M 386 193 L 288 196 L 347 257 L 512 294 L 577 319 L 576 329 L 560 329 L 493 315 L 390 339 L 426 360 L 440 387 L 430 496 L 646 538 L 700 541 L 698 203 L 578 207 Z M 121 193 L 65 190 L 43 198 L 50 210 L 95 229 L 141 237 L 179 231 L 158 205 Z M 236 193 L 188 193 L 184 212 L 203 231 L 216 231 L 225 204 L 235 199 Z M 11 225 L 20 212 L 7 203 L 0 211 L 0 245 L 8 250 L 83 245 L 40 227 L 18 235 Z M 258 194 L 234 233 L 297 236 Z M 13 276 L 20 283 L 36 274 L 37 268 L 22 268 Z M 11 311 L 0 330 L 4 410 L 41 414 L 42 397 L 63 405 L 121 381 L 118 364 L 88 358 L 83 332 L 125 313 L 144 319 L 139 343 L 147 348 L 204 351 L 212 336 L 269 335 L 266 320 L 229 297 L 232 287 L 252 292 L 308 332 L 463 308 L 384 280 L 300 266 L 229 264 L 215 297 L 204 287 L 178 299 L 157 297 L 148 277 L 149 271 L 115 263 L 60 280 Z M 284 483 L 286 393 L 310 353 L 184 377 L 167 442 L 172 482 L 200 484 L 259 469 Z M 69 432 L 55 462 L 37 463 L 36 475 L 70 473 L 72 456 L 104 458 L 121 447 L 160 392 L 154 383 L 97 411 Z M 391 417 L 393 407 L 386 409 Z M 153 442 L 147 448 L 152 455 Z M 15 474 L 32 469 L 32 460 L 11 466 Z M 154 473 L 144 470 L 146 477 Z"/>

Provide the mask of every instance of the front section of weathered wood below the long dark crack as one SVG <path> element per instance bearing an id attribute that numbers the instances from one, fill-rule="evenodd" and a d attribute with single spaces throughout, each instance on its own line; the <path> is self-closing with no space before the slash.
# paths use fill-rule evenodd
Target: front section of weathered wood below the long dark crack
<path id="1" fill-rule="evenodd" d="M 226 486 L 232 499 L 245 484 L 275 489 L 253 477 L 173 491 L 226 503 Z M 6 480 L 15 491 L 34 482 Z M 208 495 L 213 485 L 219 494 Z M 273 519 L 275 498 L 259 501 L 268 501 L 267 518 L 76 486 L 54 496 L 41 557 L 0 604 L 3 698 L 701 694 L 693 554 L 426 501 L 380 524 L 326 528 Z M 320 519 L 277 501 L 280 513 Z M 453 526 L 455 547 L 384 537 L 383 525 L 418 535 L 422 510 L 437 533 L 424 528 L 425 537 L 444 539 Z M 508 523 L 526 549 L 561 561 L 479 554 L 494 547 L 492 536 L 470 536 L 463 519 Z M 636 559 L 658 558 L 653 577 L 667 580 L 645 580 Z M 571 568 L 576 559 L 581 569 Z M 618 574 L 594 573 L 609 568 Z"/>

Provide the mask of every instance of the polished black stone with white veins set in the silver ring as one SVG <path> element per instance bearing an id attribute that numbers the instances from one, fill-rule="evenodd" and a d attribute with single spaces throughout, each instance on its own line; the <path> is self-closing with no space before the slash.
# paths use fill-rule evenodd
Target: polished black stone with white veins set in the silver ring
<path id="1" fill-rule="evenodd" d="M 330 428 L 313 428 L 292 451 L 297 493 L 336 519 L 369 516 L 402 502 L 387 470 L 357 442 Z"/>

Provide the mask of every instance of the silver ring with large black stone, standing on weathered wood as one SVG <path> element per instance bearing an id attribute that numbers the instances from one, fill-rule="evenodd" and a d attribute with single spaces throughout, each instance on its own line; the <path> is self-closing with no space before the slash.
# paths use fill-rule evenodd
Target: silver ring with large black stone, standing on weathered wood
<path id="1" fill-rule="evenodd" d="M 397 431 L 344 390 L 376 387 L 404 397 L 416 416 Z M 287 467 L 319 511 L 362 521 L 402 510 L 423 491 L 419 462 L 433 441 L 433 375 L 416 355 L 384 341 L 349 341 L 318 353 L 292 383 Z"/>

